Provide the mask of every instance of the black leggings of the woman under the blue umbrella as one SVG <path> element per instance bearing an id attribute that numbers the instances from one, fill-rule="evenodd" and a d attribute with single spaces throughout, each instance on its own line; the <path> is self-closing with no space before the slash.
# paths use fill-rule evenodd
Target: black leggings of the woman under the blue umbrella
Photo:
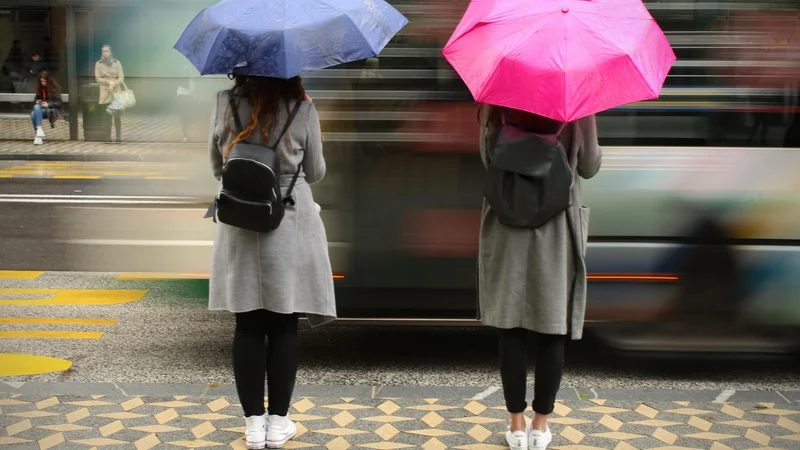
<path id="1" fill-rule="evenodd" d="M 299 350 L 296 314 L 263 309 L 236 314 L 233 376 L 246 417 L 264 414 L 265 375 L 269 413 L 278 416 L 289 413 Z"/>

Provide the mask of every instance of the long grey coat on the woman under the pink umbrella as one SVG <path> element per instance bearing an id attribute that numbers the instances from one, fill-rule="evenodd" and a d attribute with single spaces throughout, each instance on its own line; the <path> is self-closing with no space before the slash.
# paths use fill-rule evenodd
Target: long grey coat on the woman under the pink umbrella
<path id="1" fill-rule="evenodd" d="M 488 123 L 490 108 L 483 108 L 481 115 L 484 166 L 492 157 L 491 144 L 502 133 L 502 126 Z M 578 176 L 591 178 L 600 169 L 602 151 L 594 116 L 567 124 L 559 140 L 572 168 L 572 206 L 538 229 L 513 228 L 502 225 L 484 199 L 478 297 L 486 325 L 580 339 L 586 310 L 589 208 L 581 203 Z"/>

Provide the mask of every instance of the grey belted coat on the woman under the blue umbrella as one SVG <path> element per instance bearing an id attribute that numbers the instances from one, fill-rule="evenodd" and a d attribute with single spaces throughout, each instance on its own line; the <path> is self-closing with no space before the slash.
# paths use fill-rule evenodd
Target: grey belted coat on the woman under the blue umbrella
<path id="1" fill-rule="evenodd" d="M 208 140 L 211 170 L 218 180 L 225 149 L 235 137 L 230 131 L 233 116 L 229 112 L 229 97 L 228 91 L 217 94 Z M 287 109 L 294 104 L 286 106 L 281 108 L 270 145 L 274 145 L 274 139 L 286 124 Z M 247 124 L 251 111 L 248 102 L 239 102 L 243 125 Z M 256 132 L 248 142 L 263 144 L 264 139 Z M 336 318 L 336 300 L 328 239 L 309 186 L 325 175 L 322 133 L 313 104 L 303 103 L 277 150 L 284 195 L 298 164 L 303 164 L 292 193 L 296 203 L 286 205 L 280 226 L 268 233 L 217 221 L 209 309 L 234 313 L 257 309 L 281 314 L 305 313 L 311 325 L 320 325 Z"/>

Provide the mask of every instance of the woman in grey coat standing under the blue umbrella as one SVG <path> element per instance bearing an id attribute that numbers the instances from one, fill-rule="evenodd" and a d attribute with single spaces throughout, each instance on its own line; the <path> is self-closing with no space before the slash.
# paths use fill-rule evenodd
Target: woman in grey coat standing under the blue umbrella
<path id="1" fill-rule="evenodd" d="M 325 175 L 325 158 L 319 116 L 299 77 L 235 80 L 232 91 L 217 95 L 211 121 L 209 155 L 217 180 L 233 144 L 276 146 L 289 112 L 303 102 L 276 148 L 284 195 L 302 164 L 292 192 L 295 204 L 286 205 L 280 226 L 269 233 L 217 223 L 209 293 L 210 309 L 236 313 L 233 372 L 246 417 L 248 448 L 280 448 L 297 433 L 287 414 L 297 375 L 298 315 L 306 314 L 311 325 L 336 318 L 328 239 L 309 187 Z M 236 111 L 231 111 L 231 95 Z M 232 131 L 233 114 L 243 124 L 238 135 Z"/>

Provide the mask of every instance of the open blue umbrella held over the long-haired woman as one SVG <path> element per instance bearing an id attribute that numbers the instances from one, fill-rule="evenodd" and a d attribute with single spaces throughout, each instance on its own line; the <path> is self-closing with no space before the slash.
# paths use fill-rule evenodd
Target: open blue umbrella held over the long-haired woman
<path id="1" fill-rule="evenodd" d="M 203 75 L 292 78 L 376 56 L 407 23 L 384 0 L 222 0 L 175 49 Z"/>

